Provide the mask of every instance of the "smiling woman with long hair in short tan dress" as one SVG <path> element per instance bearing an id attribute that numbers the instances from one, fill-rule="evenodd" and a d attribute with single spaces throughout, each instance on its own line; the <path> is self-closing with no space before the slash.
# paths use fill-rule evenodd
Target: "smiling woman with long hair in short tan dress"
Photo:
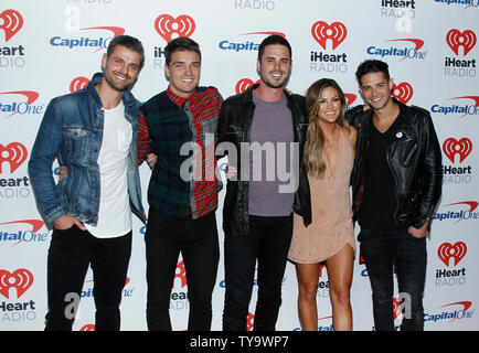
<path id="1" fill-rule="evenodd" d="M 288 258 L 298 278 L 304 331 L 318 330 L 317 289 L 326 263 L 334 330 L 352 330 L 350 287 L 355 255 L 350 174 L 356 130 L 344 120 L 345 98 L 333 79 L 313 83 L 306 94 L 309 127 L 304 158 L 311 190 L 312 223 L 295 214 Z"/>

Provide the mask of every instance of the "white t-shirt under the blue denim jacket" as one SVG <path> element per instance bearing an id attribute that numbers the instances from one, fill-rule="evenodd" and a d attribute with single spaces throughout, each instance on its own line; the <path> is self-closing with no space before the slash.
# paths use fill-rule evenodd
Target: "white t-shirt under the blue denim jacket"
<path id="1" fill-rule="evenodd" d="M 113 238 L 131 231 L 127 162 L 131 145 L 131 124 L 125 119 L 125 105 L 104 110 L 103 142 L 98 154 L 100 195 L 98 223 L 85 224 L 98 238 Z"/>

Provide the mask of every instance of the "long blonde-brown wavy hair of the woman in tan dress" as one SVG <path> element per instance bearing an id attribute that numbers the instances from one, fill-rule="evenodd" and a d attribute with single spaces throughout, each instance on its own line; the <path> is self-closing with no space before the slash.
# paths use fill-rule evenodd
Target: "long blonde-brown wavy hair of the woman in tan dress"
<path id="1" fill-rule="evenodd" d="M 308 132 L 306 133 L 304 160 L 306 171 L 311 176 L 322 178 L 326 170 L 326 162 L 323 158 L 324 150 L 324 133 L 319 125 L 318 111 L 320 105 L 320 97 L 322 89 L 332 87 L 338 90 L 341 100 L 341 113 L 336 120 L 340 127 L 349 129 L 349 124 L 344 119 L 345 97 L 341 87 L 334 79 L 321 78 L 315 82 L 306 92 L 306 107 L 309 115 Z"/>

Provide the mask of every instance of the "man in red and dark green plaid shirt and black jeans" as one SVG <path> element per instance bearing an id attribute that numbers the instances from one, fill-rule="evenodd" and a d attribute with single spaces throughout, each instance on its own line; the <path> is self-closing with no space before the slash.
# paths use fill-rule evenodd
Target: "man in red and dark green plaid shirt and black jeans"
<path id="1" fill-rule="evenodd" d="M 147 322 L 171 330 L 171 288 L 181 252 L 188 277 L 188 330 L 210 330 L 211 297 L 220 258 L 215 210 L 222 188 L 214 142 L 222 98 L 199 87 L 201 52 L 188 38 L 167 47 L 168 89 L 141 106 L 138 160 L 157 156 L 150 184 L 147 232 Z"/>

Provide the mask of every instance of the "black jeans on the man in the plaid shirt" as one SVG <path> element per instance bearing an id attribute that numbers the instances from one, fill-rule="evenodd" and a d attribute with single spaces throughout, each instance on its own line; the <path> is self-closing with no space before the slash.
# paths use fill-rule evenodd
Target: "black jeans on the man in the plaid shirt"
<path id="1" fill-rule="evenodd" d="M 145 242 L 148 329 L 171 331 L 170 296 L 181 252 L 190 302 L 188 330 L 211 330 L 211 299 L 220 260 L 214 212 L 198 220 L 181 220 L 150 207 Z"/>

